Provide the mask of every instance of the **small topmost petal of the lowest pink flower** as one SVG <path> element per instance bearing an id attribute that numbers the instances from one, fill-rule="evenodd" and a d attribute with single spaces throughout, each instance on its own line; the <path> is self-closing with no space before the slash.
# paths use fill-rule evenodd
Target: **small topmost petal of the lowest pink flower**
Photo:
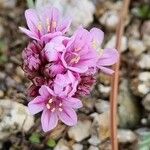
<path id="1" fill-rule="evenodd" d="M 50 95 L 54 95 L 54 92 L 46 85 L 41 86 L 39 93 L 42 97 L 49 97 Z"/>

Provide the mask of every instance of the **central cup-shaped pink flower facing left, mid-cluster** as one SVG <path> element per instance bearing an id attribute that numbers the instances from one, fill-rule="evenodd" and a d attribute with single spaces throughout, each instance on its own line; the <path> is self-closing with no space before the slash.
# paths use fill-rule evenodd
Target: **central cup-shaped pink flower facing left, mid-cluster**
<path id="1" fill-rule="evenodd" d="M 98 55 L 92 47 L 91 40 L 92 37 L 87 30 L 80 27 L 76 31 L 61 56 L 65 68 L 84 73 L 90 67 L 96 67 Z"/>

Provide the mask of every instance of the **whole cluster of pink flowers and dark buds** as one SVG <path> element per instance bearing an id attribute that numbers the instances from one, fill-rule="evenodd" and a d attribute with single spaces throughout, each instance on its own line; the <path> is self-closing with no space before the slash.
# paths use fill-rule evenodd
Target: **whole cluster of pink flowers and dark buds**
<path id="1" fill-rule="evenodd" d="M 68 37 L 71 21 L 60 20 L 56 8 L 28 9 L 25 18 L 28 29 L 20 30 L 33 39 L 22 53 L 23 70 L 32 81 L 29 110 L 33 115 L 42 112 L 45 132 L 58 120 L 73 126 L 82 107 L 79 98 L 90 93 L 99 71 L 113 73 L 109 66 L 117 62 L 118 52 L 101 49 L 104 33 L 97 28 L 79 27 Z"/>

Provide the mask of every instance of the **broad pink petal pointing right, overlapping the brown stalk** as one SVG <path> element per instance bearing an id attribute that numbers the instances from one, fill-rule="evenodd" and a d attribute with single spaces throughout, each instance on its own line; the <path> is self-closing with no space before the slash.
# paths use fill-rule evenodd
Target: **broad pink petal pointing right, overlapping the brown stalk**
<path id="1" fill-rule="evenodd" d="M 100 56 L 97 67 L 99 66 L 111 66 L 115 64 L 119 59 L 119 53 L 116 49 L 104 49 L 104 53 Z"/>

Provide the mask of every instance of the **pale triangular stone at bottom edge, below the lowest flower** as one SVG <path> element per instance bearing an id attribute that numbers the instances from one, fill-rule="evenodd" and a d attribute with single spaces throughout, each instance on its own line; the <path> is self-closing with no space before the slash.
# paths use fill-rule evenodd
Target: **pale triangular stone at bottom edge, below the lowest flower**
<path id="1" fill-rule="evenodd" d="M 70 150 L 70 148 L 66 140 L 60 139 L 54 150 Z"/>

